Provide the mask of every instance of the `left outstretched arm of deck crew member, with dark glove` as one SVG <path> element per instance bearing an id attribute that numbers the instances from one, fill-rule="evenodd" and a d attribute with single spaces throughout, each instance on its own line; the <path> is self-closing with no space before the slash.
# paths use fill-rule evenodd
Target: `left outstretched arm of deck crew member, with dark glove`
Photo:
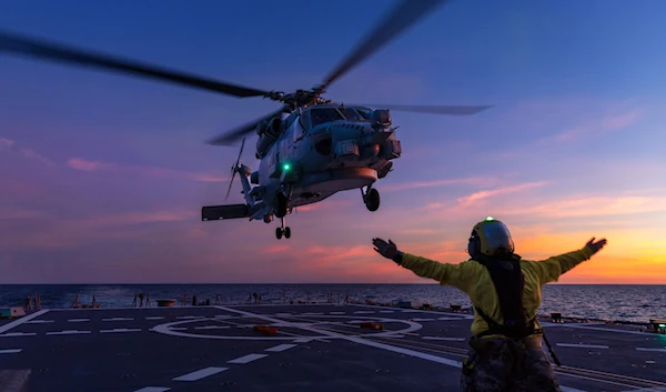
<path id="1" fill-rule="evenodd" d="M 447 264 L 410 253 L 403 253 L 397 250 L 393 241 L 389 242 L 382 239 L 374 239 L 373 244 L 383 257 L 395 261 L 398 265 L 406 268 L 421 278 L 436 280 L 441 284 L 450 284 L 464 292 L 468 291 L 474 282 L 474 270 L 465 268 L 465 263 Z"/>

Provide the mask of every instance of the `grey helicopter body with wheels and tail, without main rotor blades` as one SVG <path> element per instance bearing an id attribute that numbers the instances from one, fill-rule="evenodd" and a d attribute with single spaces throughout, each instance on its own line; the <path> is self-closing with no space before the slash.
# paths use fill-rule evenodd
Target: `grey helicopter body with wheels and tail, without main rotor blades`
<path id="1" fill-rule="evenodd" d="M 281 219 L 276 238 L 290 238 L 284 217 L 294 208 L 352 189 L 360 189 L 367 209 L 376 211 L 380 193 L 373 184 L 386 177 L 402 152 L 389 110 L 360 105 L 299 107 L 284 119 L 260 122 L 255 131 L 259 169 L 238 162 L 232 168 L 241 177 L 245 202 L 203 207 L 202 220 L 270 223 L 275 217 Z"/>

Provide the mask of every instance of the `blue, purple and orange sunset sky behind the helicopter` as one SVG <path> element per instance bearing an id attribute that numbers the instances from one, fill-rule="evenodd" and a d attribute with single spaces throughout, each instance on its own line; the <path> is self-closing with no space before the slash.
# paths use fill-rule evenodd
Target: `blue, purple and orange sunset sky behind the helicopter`
<path id="1" fill-rule="evenodd" d="M 293 91 L 322 82 L 391 6 L 14 1 L 0 29 Z M 289 240 L 275 222 L 200 212 L 224 203 L 238 154 L 204 141 L 276 102 L 0 53 L 0 284 L 432 283 L 372 239 L 458 263 L 487 215 L 528 260 L 608 240 L 558 283 L 666 284 L 664 12 L 658 0 L 438 8 L 325 97 L 494 107 L 392 112 L 403 154 L 375 184 L 380 209 L 337 193 L 287 215 Z"/>

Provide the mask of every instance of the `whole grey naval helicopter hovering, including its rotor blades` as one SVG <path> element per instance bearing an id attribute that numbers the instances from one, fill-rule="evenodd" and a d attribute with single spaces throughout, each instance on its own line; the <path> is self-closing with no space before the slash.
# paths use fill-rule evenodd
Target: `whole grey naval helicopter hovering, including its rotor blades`
<path id="1" fill-rule="evenodd" d="M 241 87 L 3 31 L 0 31 L 0 53 L 97 67 L 239 98 L 262 97 L 281 102 L 278 110 L 206 141 L 212 145 L 233 145 L 242 139 L 225 200 L 239 174 L 244 203 L 201 209 L 202 221 L 249 219 L 271 223 L 275 217 L 281 220 L 275 228 L 280 240 L 291 238 L 285 217 L 294 209 L 321 202 L 337 192 L 360 189 L 367 210 L 380 208 L 380 193 L 374 184 L 393 171 L 393 160 L 402 154 L 391 110 L 470 115 L 492 107 L 382 104 L 381 109 L 372 109 L 380 105 L 344 104 L 322 98 L 335 80 L 445 2 L 400 1 L 323 83 L 291 93 Z M 241 163 L 245 139 L 252 132 L 258 135 L 256 171 Z"/>

